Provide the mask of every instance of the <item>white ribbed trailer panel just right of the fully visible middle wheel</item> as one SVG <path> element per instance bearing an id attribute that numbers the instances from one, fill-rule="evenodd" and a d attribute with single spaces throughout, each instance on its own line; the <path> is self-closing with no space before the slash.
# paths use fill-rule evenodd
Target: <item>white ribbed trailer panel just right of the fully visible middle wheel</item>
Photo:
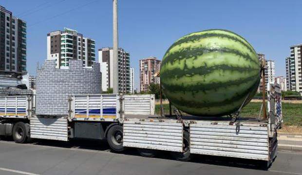
<path id="1" fill-rule="evenodd" d="M 183 124 L 175 122 L 124 121 L 126 147 L 183 151 Z"/>

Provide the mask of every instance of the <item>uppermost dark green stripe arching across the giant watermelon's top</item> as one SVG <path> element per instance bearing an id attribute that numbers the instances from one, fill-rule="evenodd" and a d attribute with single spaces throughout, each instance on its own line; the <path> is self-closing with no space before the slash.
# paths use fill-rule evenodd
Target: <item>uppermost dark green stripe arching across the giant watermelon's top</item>
<path id="1" fill-rule="evenodd" d="M 230 35 L 226 35 L 226 34 L 215 34 L 215 33 L 205 33 L 205 34 L 195 34 L 195 35 L 191 35 L 189 37 L 184 37 L 184 38 L 181 38 L 180 40 L 178 40 L 177 42 L 175 42 L 170 48 L 169 50 L 167 51 L 167 53 L 170 52 L 170 50 L 174 47 L 174 46 L 177 46 L 177 45 L 180 45 L 184 42 L 198 42 L 199 40 L 201 39 L 205 39 L 205 38 L 208 38 L 208 37 L 224 37 L 224 38 L 228 38 L 228 39 L 231 39 L 231 40 L 234 40 L 234 41 L 237 41 L 237 42 L 240 42 L 241 44 L 243 44 L 251 53 L 255 53 L 254 49 L 252 49 L 252 47 L 249 45 L 249 44 L 246 44 L 245 42 L 243 42 L 242 40 L 234 37 L 234 36 L 230 36 Z"/>

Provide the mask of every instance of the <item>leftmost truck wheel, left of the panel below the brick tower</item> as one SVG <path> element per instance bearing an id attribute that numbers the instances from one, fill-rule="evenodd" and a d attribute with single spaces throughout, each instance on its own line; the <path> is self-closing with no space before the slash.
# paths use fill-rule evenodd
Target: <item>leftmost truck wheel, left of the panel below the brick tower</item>
<path id="1" fill-rule="evenodd" d="M 25 126 L 25 123 L 18 122 L 13 127 L 13 139 L 16 143 L 26 143 L 28 137 L 27 137 L 27 129 Z"/>

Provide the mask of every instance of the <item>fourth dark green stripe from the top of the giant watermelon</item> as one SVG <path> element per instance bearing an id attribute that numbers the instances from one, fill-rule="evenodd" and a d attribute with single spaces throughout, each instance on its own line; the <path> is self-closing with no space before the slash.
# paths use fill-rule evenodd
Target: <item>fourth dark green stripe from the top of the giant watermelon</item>
<path id="1" fill-rule="evenodd" d="M 206 91 L 206 90 L 211 90 L 211 89 L 220 88 L 220 87 L 240 85 L 242 83 L 249 82 L 249 81 L 255 81 L 255 77 L 254 76 L 249 76 L 249 77 L 246 77 L 246 78 L 227 81 L 227 82 L 224 82 L 224 83 L 221 83 L 221 82 L 213 82 L 211 84 L 197 83 L 197 84 L 188 85 L 188 86 L 185 86 L 185 85 L 168 85 L 165 82 L 162 82 L 162 86 L 163 86 L 163 88 L 170 89 L 170 92 L 182 91 L 184 89 L 186 89 L 186 91 L 191 92 L 191 91 L 200 91 L 200 90 Z M 182 89 L 182 90 L 180 90 L 180 89 Z"/>

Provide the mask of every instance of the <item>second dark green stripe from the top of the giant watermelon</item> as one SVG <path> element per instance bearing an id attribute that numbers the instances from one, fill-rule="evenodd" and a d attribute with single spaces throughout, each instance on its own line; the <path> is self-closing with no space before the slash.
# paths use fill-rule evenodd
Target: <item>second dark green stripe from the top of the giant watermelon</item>
<path id="1" fill-rule="evenodd" d="M 162 61 L 162 66 L 165 65 L 166 63 L 170 62 L 171 64 L 174 61 L 179 61 L 184 59 L 183 55 L 192 55 L 192 57 L 195 57 L 195 59 L 197 59 L 197 55 L 202 55 L 203 53 L 211 53 L 211 52 L 221 52 L 221 53 L 233 53 L 236 54 L 238 56 L 241 56 L 243 58 L 245 58 L 245 60 L 247 61 L 251 61 L 253 63 L 255 63 L 256 65 L 259 65 L 259 61 L 254 60 L 249 54 L 245 54 L 245 53 L 241 53 L 238 50 L 234 50 L 234 49 L 228 49 L 228 48 L 194 48 L 194 49 L 190 49 L 190 48 L 186 48 L 182 51 L 178 51 L 178 52 L 174 52 L 171 53 L 169 55 L 165 55 Z"/>

